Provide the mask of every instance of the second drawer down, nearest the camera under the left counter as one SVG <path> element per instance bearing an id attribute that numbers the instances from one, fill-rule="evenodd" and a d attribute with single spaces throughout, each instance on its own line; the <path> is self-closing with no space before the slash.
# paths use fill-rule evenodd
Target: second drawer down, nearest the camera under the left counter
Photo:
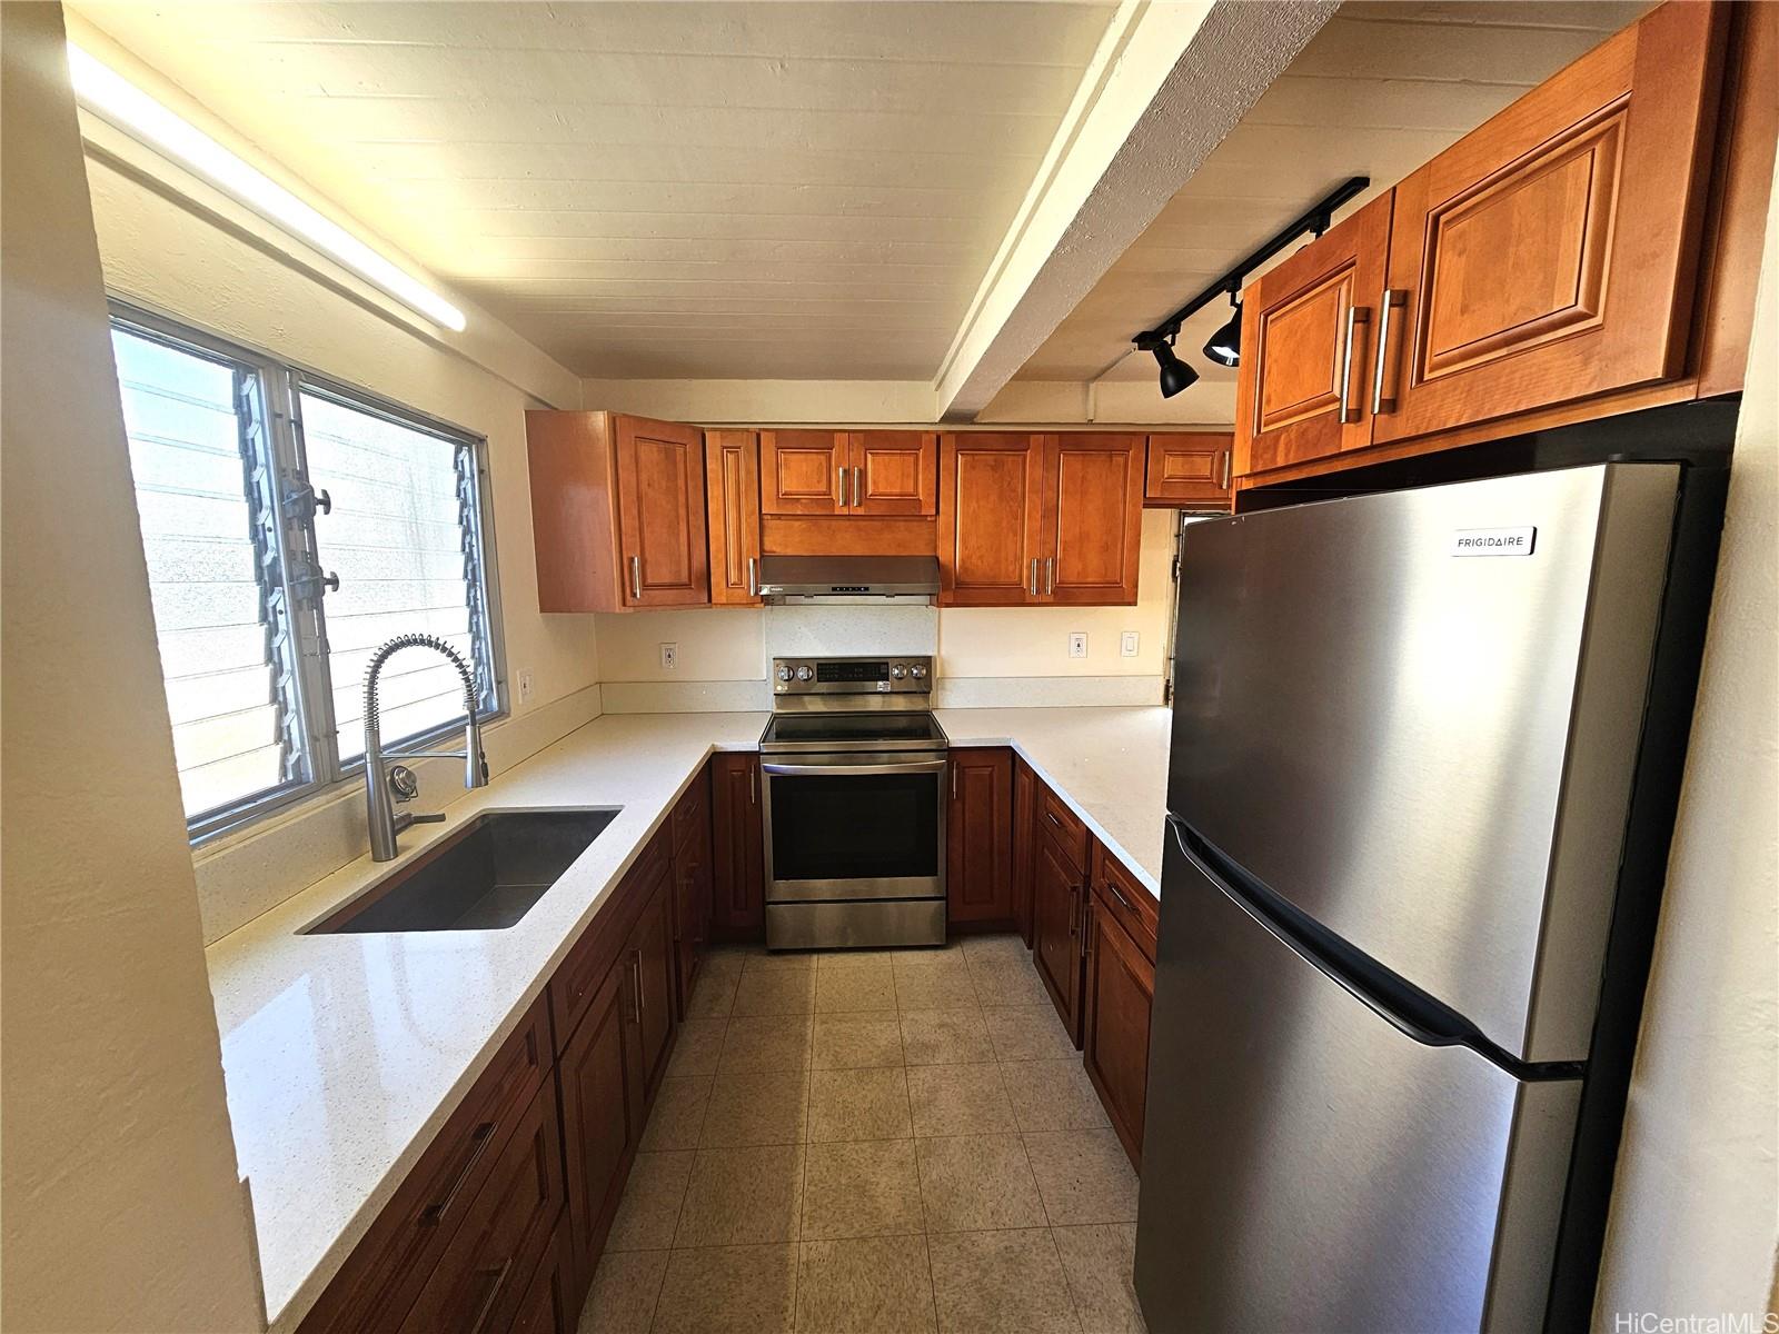
<path id="1" fill-rule="evenodd" d="M 562 1133 L 555 1089 L 525 1110 L 402 1334 L 491 1334 L 511 1329 L 562 1215 Z"/>

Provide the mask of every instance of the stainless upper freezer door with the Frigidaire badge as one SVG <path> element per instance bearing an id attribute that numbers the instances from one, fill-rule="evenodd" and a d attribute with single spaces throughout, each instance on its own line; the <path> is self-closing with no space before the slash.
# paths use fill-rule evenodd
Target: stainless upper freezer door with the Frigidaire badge
<path id="1" fill-rule="evenodd" d="M 1169 809 L 1512 1055 L 1585 1060 L 1676 482 L 1194 525 Z"/>

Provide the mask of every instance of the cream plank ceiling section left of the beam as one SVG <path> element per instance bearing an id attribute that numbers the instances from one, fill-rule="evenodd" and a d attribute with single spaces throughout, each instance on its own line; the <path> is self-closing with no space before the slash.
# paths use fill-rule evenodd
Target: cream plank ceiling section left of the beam
<path id="1" fill-rule="evenodd" d="M 582 375 L 930 377 L 1110 4 L 76 4 Z"/>

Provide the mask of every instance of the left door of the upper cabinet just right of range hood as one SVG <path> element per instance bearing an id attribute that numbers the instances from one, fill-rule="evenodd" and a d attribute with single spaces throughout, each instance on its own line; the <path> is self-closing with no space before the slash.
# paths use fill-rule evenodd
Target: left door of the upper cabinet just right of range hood
<path id="1" fill-rule="evenodd" d="M 1025 607 L 1042 601 L 1044 443 L 994 430 L 939 438 L 939 601 Z"/>

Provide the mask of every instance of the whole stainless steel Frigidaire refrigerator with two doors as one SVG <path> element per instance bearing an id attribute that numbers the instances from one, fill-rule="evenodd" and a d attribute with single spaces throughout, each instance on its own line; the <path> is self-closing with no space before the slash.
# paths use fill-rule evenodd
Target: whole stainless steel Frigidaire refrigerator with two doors
<path id="1" fill-rule="evenodd" d="M 1589 1142 L 1590 1060 L 1638 968 L 1615 914 L 1653 920 L 1621 861 L 1679 486 L 1601 464 L 1187 532 L 1155 1334 L 1533 1330 L 1564 1234 L 1598 1242 L 1576 1211 L 1603 1211 L 1617 1119 Z"/>

